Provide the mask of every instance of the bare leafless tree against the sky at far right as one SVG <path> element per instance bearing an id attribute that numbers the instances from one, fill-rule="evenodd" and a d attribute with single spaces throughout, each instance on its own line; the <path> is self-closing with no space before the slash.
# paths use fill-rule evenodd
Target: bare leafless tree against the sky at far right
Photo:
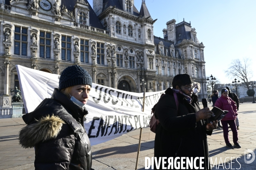
<path id="1" fill-rule="evenodd" d="M 235 59 L 230 64 L 230 67 L 225 70 L 225 73 L 228 77 L 238 77 L 242 81 L 244 81 L 245 86 L 247 89 L 250 89 L 248 80 L 252 78 L 252 71 L 250 69 L 250 59 L 249 58 L 243 58 L 243 61 L 241 62 L 240 59 Z"/>

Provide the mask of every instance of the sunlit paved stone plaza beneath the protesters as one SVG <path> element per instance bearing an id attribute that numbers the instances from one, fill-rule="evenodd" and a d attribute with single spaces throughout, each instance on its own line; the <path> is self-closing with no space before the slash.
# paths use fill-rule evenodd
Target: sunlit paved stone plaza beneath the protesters
<path id="1" fill-rule="evenodd" d="M 208 136 L 212 164 L 216 161 L 215 165 L 220 165 L 212 167 L 212 170 L 256 170 L 256 160 L 250 164 L 246 164 L 244 160 L 247 149 L 256 153 L 256 104 L 243 103 L 240 105 L 238 113 L 240 149 L 230 149 L 225 146 L 222 129 L 214 130 L 213 134 Z M 34 169 L 34 149 L 23 149 L 18 144 L 18 132 L 24 126 L 22 118 L 0 119 L 0 170 Z M 135 130 L 111 141 L 94 145 L 92 147 L 92 167 L 95 170 L 135 170 L 139 132 L 140 130 Z M 138 170 L 145 169 L 145 157 L 154 155 L 155 134 L 149 128 L 143 129 L 142 132 Z M 231 131 L 229 135 L 232 144 Z"/>

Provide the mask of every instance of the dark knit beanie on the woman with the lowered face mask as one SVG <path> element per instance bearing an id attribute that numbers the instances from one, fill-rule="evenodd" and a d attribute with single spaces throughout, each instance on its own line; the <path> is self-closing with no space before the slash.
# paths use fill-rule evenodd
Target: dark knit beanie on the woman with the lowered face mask
<path id="1" fill-rule="evenodd" d="M 74 65 L 63 70 L 59 78 L 59 91 L 79 84 L 92 85 L 91 75 L 85 69 Z"/>

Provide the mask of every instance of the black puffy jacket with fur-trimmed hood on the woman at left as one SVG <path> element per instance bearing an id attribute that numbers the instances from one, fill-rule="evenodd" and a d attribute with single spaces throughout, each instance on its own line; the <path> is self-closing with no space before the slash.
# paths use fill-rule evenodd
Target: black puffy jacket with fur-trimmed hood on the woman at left
<path id="1" fill-rule="evenodd" d="M 22 147 L 35 147 L 35 170 L 90 170 L 91 144 L 83 125 L 86 109 L 58 89 L 22 118 Z"/>

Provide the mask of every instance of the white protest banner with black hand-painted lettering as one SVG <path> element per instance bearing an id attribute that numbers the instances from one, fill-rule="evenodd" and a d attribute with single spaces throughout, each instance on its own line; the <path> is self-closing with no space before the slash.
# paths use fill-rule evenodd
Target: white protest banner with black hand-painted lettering
<path id="1" fill-rule="evenodd" d="M 59 76 L 16 65 L 26 112 L 32 112 L 44 98 L 50 98 L 59 86 Z M 161 92 L 147 92 L 142 111 L 143 93 L 127 92 L 92 84 L 84 123 L 91 145 L 117 138 L 132 130 L 148 127 L 151 108 Z"/>

